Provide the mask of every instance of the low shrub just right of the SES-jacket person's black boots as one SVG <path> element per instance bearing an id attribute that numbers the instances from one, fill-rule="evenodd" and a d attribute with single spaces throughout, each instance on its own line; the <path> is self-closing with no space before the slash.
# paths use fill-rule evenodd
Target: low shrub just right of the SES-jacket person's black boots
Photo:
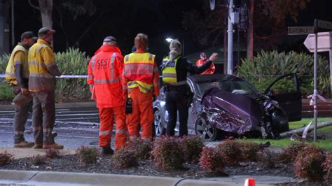
<path id="1" fill-rule="evenodd" d="M 113 166 L 116 169 L 138 166 L 138 159 L 133 150 L 129 148 L 120 148 L 113 155 Z"/>

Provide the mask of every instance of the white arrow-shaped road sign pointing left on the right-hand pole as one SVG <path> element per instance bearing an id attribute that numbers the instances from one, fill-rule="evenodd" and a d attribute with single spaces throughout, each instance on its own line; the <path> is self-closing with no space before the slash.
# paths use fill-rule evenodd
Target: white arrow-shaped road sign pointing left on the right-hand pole
<path id="1" fill-rule="evenodd" d="M 317 52 L 330 51 L 332 48 L 332 32 L 319 32 L 318 33 L 318 46 Z M 310 52 L 314 52 L 314 34 L 309 34 L 305 38 L 305 47 Z"/>

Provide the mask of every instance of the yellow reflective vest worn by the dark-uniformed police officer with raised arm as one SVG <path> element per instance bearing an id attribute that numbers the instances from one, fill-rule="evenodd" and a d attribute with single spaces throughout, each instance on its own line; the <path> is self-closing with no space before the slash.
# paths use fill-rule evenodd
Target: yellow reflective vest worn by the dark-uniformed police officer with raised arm
<path id="1" fill-rule="evenodd" d="M 162 59 L 162 82 L 170 84 L 177 83 L 177 61 L 179 58 L 180 57 L 175 58 L 168 64 L 168 56 Z"/>

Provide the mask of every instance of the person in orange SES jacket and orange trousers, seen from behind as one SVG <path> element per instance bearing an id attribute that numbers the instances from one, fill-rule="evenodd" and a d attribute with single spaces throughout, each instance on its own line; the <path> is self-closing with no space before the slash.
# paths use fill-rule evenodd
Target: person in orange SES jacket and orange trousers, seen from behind
<path id="1" fill-rule="evenodd" d="M 121 76 L 123 73 L 123 56 L 116 45 L 116 38 L 107 36 L 103 45 L 90 59 L 88 66 L 88 84 L 92 99 L 97 101 L 99 109 L 99 146 L 104 155 L 113 155 L 111 136 L 113 115 L 116 120 L 115 150 L 123 147 L 127 139 L 125 124 L 125 99 Z"/>

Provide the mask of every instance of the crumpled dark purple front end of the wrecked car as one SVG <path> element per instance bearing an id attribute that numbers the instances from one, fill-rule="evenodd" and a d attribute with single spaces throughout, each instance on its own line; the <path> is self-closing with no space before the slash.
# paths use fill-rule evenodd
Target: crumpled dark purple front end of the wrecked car
<path id="1" fill-rule="evenodd" d="M 275 127 L 285 122 L 278 103 L 268 96 L 254 98 L 212 88 L 205 92 L 201 105 L 200 116 L 204 120 L 218 129 L 235 134 L 261 131 L 264 138 L 277 138 Z"/>

